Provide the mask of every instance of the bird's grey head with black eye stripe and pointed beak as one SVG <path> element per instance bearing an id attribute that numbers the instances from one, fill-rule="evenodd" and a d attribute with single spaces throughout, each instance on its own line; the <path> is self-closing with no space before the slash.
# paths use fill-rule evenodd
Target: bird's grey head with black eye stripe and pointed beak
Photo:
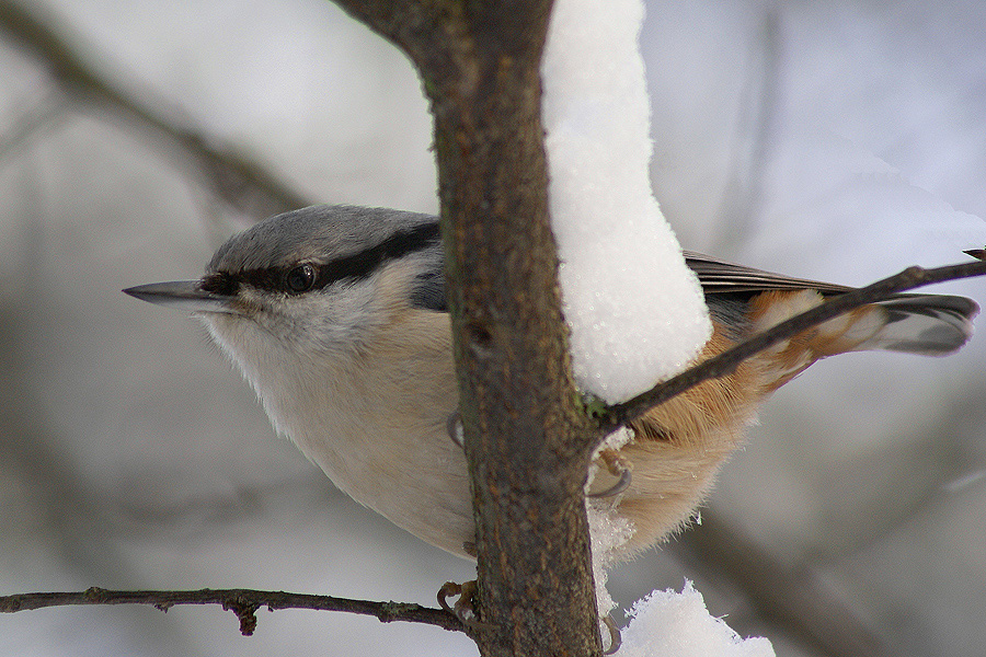
<path id="1" fill-rule="evenodd" d="M 352 345 L 401 306 L 445 311 L 438 221 L 386 208 L 302 208 L 230 238 L 199 280 L 124 291 L 199 313 L 220 342 L 249 318 L 280 346 Z"/>

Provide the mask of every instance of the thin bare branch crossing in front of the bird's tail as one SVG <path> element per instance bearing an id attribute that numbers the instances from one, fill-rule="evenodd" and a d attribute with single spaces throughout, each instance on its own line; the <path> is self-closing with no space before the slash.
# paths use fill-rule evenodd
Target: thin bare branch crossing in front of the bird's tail
<path id="1" fill-rule="evenodd" d="M 971 255 L 977 257 L 975 253 L 972 253 Z M 846 312 L 867 306 L 868 303 L 883 301 L 898 292 L 913 290 L 926 285 L 984 275 L 986 275 L 986 262 L 984 261 L 963 263 L 960 265 L 947 265 L 944 267 L 931 269 L 908 267 L 895 276 L 878 280 L 872 285 L 839 295 L 838 297 L 832 297 L 822 304 L 799 315 L 794 315 L 790 320 L 781 322 L 764 333 L 758 333 L 735 347 L 704 360 L 676 377 L 672 377 L 667 381 L 655 385 L 651 390 L 643 392 L 629 401 L 614 404 L 601 413 L 599 423 L 600 431 L 609 434 L 642 416 L 654 406 L 663 404 L 672 397 L 679 395 L 704 381 L 729 376 L 734 372 L 744 360 L 764 349 L 768 349 L 780 342 L 791 338 L 803 331 L 807 331 L 813 326 L 817 326 L 818 324 L 835 319 Z"/>

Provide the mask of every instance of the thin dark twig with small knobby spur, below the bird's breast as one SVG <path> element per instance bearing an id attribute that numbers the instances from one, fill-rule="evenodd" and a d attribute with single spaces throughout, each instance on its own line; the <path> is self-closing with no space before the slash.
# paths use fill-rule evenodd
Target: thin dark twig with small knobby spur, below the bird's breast
<path id="1" fill-rule="evenodd" d="M 443 630 L 463 632 L 462 623 L 440 610 L 411 602 L 374 602 L 332 596 L 312 596 L 285 591 L 255 589 L 199 589 L 194 591 L 112 591 L 92 587 L 84 591 L 51 593 L 18 593 L 0 596 L 0 613 L 13 613 L 46 607 L 70 604 L 151 604 L 168 611 L 177 604 L 221 604 L 240 620 L 240 632 L 250 636 L 256 629 L 256 610 L 311 609 L 344 611 L 377 618 L 381 623 L 405 621 L 424 623 Z"/>

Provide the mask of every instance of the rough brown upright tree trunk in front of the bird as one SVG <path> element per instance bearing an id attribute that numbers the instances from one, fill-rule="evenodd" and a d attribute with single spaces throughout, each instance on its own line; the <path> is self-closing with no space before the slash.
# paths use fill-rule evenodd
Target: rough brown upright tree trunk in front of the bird
<path id="1" fill-rule="evenodd" d="M 339 2 L 417 66 L 435 117 L 485 657 L 600 652 L 548 218 L 540 57 L 551 2 Z"/>

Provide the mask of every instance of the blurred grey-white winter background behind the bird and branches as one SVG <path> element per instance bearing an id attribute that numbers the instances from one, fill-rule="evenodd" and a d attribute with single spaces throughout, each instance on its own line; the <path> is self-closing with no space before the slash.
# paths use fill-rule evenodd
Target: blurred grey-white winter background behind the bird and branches
<path id="1" fill-rule="evenodd" d="M 652 1 L 653 183 L 683 244 L 865 284 L 986 243 L 986 4 Z M 181 313 L 309 201 L 435 211 L 408 61 L 324 0 L 0 0 L 0 592 L 255 587 L 433 606 L 470 563 L 337 493 Z M 986 281 L 941 286 L 986 302 Z M 982 656 L 986 336 L 780 391 L 702 522 L 610 577 L 691 578 L 781 656 Z M 0 618 L 0 655 L 475 655 L 349 614 Z"/>

